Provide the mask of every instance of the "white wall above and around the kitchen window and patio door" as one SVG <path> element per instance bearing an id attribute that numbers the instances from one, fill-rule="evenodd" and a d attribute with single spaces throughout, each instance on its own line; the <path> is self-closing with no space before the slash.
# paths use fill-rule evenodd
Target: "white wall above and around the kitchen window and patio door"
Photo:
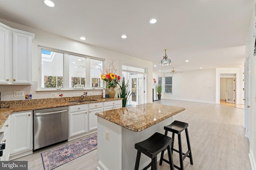
<path id="1" fill-rule="evenodd" d="M 39 29 L 34 29 L 32 27 L 27 27 L 24 25 L 20 25 L 17 23 L 13 23 L 10 21 L 2 20 L 0 19 L 1 23 L 4 23 L 5 25 L 8 25 L 9 27 L 20 29 L 22 31 L 27 31 L 35 34 L 35 39 L 32 42 L 32 80 L 34 82 L 37 82 L 39 79 L 38 75 L 38 68 L 40 66 L 40 63 L 38 63 L 38 58 L 40 57 L 40 54 L 38 52 L 38 45 L 42 47 L 50 47 L 53 49 L 60 49 L 64 51 L 69 51 L 72 53 L 78 53 L 82 55 L 88 55 L 92 57 L 98 57 L 102 59 L 106 59 L 106 63 L 110 62 L 112 59 L 116 60 L 118 64 L 115 65 L 115 68 L 117 69 L 116 74 L 121 75 L 122 74 L 122 68 L 121 68 L 121 62 L 130 63 L 134 66 L 144 67 L 147 68 L 148 72 L 148 86 L 146 89 L 150 89 L 147 91 L 147 98 L 146 101 L 152 102 L 152 62 L 141 60 L 132 56 L 124 55 L 121 53 L 117 53 L 115 51 L 110 51 L 107 49 L 102 49 L 100 47 L 96 47 L 93 45 L 88 45 L 85 43 L 81 43 L 78 41 L 74 41 L 68 38 L 64 38 L 55 34 L 51 34 Z M 139 63 L 139 65 L 138 65 Z M 0 91 L 4 90 L 4 87 L 6 85 L 0 85 Z M 2 88 L 2 89 L 1 89 Z M 117 90 L 117 88 L 116 88 Z M 9 90 L 8 90 L 9 91 Z M 32 90 L 30 90 L 32 91 Z M 88 90 L 87 90 L 88 91 Z M 35 90 L 33 90 L 35 92 Z M 94 92 L 94 91 L 92 91 Z M 37 93 L 37 92 L 35 92 Z M 64 91 L 62 93 L 65 93 Z M 9 92 L 8 92 L 9 94 Z M 10 95 L 13 94 L 13 92 L 10 92 Z M 116 94 L 117 95 L 117 94 Z M 67 97 L 67 95 L 64 95 Z M 33 98 L 33 96 L 32 96 Z M 11 97 L 4 96 L 3 100 L 8 99 L 12 100 Z M 20 100 L 20 99 L 16 99 Z"/>

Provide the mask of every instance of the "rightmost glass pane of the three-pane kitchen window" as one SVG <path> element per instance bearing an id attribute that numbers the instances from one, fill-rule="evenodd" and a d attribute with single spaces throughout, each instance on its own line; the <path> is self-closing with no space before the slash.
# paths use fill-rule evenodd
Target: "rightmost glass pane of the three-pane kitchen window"
<path id="1" fill-rule="evenodd" d="M 102 80 L 100 78 L 103 61 L 90 59 L 90 84 L 91 87 L 103 87 Z"/>

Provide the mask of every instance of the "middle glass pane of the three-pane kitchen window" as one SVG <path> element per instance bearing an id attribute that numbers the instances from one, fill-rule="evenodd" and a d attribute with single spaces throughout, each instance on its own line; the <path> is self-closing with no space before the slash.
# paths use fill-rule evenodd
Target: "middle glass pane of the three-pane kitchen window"
<path id="1" fill-rule="evenodd" d="M 69 55 L 69 87 L 82 84 L 85 86 L 86 63 L 85 57 Z"/>

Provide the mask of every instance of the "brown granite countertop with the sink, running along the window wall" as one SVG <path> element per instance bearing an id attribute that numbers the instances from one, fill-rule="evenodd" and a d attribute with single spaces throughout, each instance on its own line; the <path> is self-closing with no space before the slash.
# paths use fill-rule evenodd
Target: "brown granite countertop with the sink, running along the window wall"
<path id="1" fill-rule="evenodd" d="M 41 103 L 41 104 L 21 104 L 21 105 L 15 105 L 15 106 L 9 106 L 9 107 L 1 107 L 0 108 L 0 129 L 2 128 L 2 125 L 4 122 L 7 120 L 9 115 L 14 112 L 19 112 L 19 111 L 31 111 L 31 110 L 38 110 L 38 109 L 48 109 L 48 108 L 53 108 L 53 107 L 63 107 L 63 106 L 73 106 L 73 105 L 79 105 L 79 104 L 91 104 L 91 103 L 97 103 L 97 102 L 108 102 L 108 101 L 113 101 L 113 100 L 122 100 L 122 98 L 93 98 L 95 101 L 91 102 L 81 102 L 81 103 L 76 103 L 72 104 L 68 101 L 58 101 L 54 102 L 52 99 L 45 99 L 48 100 L 46 103 Z M 85 99 L 88 100 L 88 99 Z M 73 100 L 74 101 L 74 100 Z M 82 101 L 82 100 L 80 100 Z"/>

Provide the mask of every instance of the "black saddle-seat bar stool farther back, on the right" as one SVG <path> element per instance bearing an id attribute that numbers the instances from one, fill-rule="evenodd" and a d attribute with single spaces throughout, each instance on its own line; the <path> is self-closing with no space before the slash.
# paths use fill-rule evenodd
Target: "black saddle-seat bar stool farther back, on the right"
<path id="1" fill-rule="evenodd" d="M 190 141 L 189 141 L 189 137 L 188 137 L 188 123 L 184 123 L 181 121 L 174 121 L 172 122 L 170 125 L 168 126 L 164 126 L 164 130 L 165 130 L 165 134 L 167 136 L 168 131 L 172 132 L 172 153 L 173 151 L 176 151 L 179 153 L 179 157 L 180 157 L 180 167 L 178 167 L 177 165 L 174 164 L 174 167 L 179 169 L 179 170 L 183 170 L 184 166 L 183 166 L 183 160 L 188 157 L 190 159 L 190 164 L 193 165 L 193 159 L 192 159 L 192 153 L 191 153 L 191 148 L 190 148 Z M 188 151 L 186 153 L 182 152 L 182 145 L 181 145 L 181 135 L 180 133 L 182 131 L 186 132 L 186 139 L 187 139 L 187 144 L 188 144 Z M 178 145 L 179 145 L 179 150 L 176 150 L 173 148 L 174 145 L 174 133 L 178 134 Z M 184 156 L 183 156 L 184 155 Z M 167 162 L 166 159 L 164 159 L 164 150 L 161 153 L 161 158 L 160 158 L 160 165 L 162 165 L 162 162 Z"/>

